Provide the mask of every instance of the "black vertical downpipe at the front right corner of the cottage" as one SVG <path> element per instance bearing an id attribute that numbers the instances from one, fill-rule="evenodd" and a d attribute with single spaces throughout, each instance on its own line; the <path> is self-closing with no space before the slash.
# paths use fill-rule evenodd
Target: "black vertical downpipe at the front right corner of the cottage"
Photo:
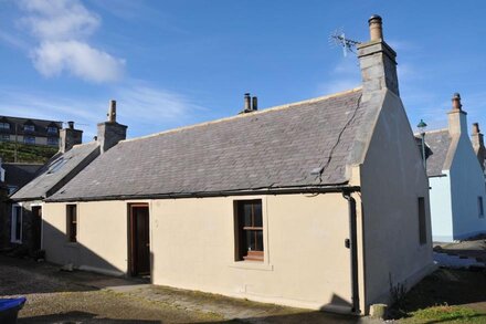
<path id="1" fill-rule="evenodd" d="M 358 190 L 353 190 L 358 191 Z M 349 210 L 349 239 L 346 240 L 346 247 L 350 249 L 351 261 L 351 312 L 360 314 L 359 310 L 359 282 L 358 282 L 358 227 L 356 216 L 356 200 L 351 197 L 351 190 L 342 190 L 342 197 L 348 200 Z"/>

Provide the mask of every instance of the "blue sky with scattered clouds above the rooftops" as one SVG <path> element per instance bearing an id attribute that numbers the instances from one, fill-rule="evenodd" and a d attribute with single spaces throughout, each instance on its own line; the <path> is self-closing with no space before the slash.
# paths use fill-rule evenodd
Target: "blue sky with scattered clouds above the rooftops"
<path id="1" fill-rule="evenodd" d="M 383 18 L 414 126 L 446 125 L 459 92 L 486 130 L 483 1 L 0 0 L 0 115 L 75 121 L 84 140 L 110 98 L 128 137 L 360 84 L 328 35 L 369 39 Z M 471 127 L 469 127 L 471 128 Z"/>

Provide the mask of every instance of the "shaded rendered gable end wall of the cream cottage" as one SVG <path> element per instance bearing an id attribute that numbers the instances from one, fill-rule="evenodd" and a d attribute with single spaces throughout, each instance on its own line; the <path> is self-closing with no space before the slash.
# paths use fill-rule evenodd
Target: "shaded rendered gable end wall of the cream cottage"
<path id="1" fill-rule="evenodd" d="M 409 289 L 433 265 L 429 188 L 415 139 L 398 96 L 381 92 L 382 108 L 360 169 L 366 303 Z M 426 201 L 427 242 L 419 241 L 418 198 Z M 379 224 L 379 226 L 378 226 Z"/>

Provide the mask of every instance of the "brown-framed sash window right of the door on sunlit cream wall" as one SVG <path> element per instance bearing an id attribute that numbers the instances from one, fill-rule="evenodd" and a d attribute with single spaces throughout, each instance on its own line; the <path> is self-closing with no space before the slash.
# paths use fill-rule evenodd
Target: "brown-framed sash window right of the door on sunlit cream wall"
<path id="1" fill-rule="evenodd" d="M 236 261 L 263 261 L 262 200 L 239 200 L 234 203 Z"/>

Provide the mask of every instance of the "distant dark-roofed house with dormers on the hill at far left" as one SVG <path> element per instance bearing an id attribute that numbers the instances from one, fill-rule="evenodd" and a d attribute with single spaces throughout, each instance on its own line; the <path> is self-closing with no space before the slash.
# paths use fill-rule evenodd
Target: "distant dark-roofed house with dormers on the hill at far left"
<path id="1" fill-rule="evenodd" d="M 57 146 L 62 122 L 0 116 L 0 142 Z"/>

